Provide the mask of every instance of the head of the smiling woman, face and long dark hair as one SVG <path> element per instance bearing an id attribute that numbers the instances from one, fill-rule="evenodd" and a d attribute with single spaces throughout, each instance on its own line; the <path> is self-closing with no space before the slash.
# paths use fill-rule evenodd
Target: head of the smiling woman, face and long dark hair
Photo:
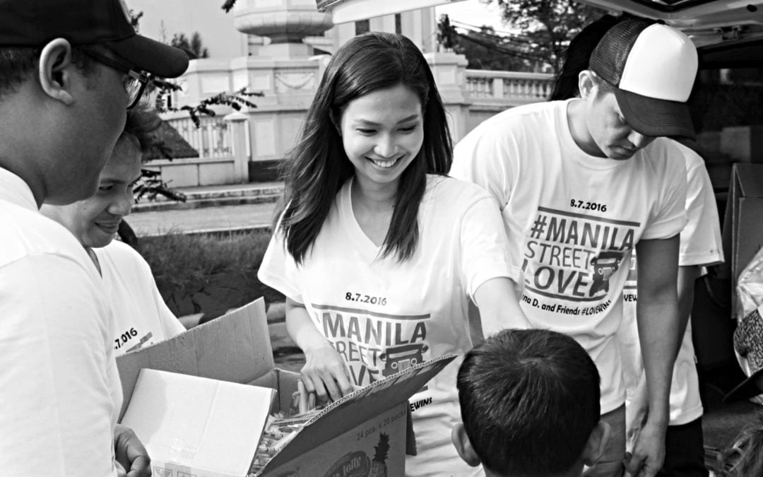
<path id="1" fill-rule="evenodd" d="M 382 256 L 410 258 L 427 173 L 444 175 L 451 162 L 445 107 L 419 48 L 397 34 L 354 37 L 333 54 L 286 161 L 288 252 L 301 262 L 336 193 L 356 176 L 394 197 Z"/>

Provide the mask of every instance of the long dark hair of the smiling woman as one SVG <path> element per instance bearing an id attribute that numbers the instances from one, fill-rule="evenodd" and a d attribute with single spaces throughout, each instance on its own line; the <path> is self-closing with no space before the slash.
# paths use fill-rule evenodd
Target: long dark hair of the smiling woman
<path id="1" fill-rule="evenodd" d="M 443 101 L 427 60 L 408 38 L 369 33 L 354 37 L 331 58 L 307 111 L 297 146 L 285 162 L 285 207 L 278 230 L 297 263 L 311 249 L 336 193 L 355 169 L 344 152 L 337 121 L 356 98 L 405 85 L 418 95 L 423 113 L 423 145 L 404 170 L 381 256 L 404 261 L 416 251 L 419 204 L 427 173 L 445 175 L 452 163 L 452 139 Z M 275 230 L 275 229 L 274 229 Z"/>

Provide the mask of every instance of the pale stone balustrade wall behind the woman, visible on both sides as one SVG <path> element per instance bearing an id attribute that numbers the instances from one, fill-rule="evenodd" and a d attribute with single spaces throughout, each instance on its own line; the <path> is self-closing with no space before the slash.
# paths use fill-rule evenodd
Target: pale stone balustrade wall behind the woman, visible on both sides
<path id="1" fill-rule="evenodd" d="M 456 141 L 497 112 L 545 101 L 551 92 L 551 75 L 466 69 L 465 56 L 449 51 L 424 56 L 449 112 Z M 159 167 L 163 178 L 171 177 L 178 186 L 274 180 L 278 164 L 294 146 L 328 59 L 322 55 L 285 60 L 258 56 L 193 60 L 179 80 L 183 91 L 175 95 L 176 107 L 244 87 L 264 96 L 250 98 L 256 108 L 245 107 L 228 120 L 223 116 L 231 109 L 216 107 L 217 117 L 201 118 L 198 129 L 185 113 L 165 114 L 201 159 L 153 161 L 150 166 Z"/>

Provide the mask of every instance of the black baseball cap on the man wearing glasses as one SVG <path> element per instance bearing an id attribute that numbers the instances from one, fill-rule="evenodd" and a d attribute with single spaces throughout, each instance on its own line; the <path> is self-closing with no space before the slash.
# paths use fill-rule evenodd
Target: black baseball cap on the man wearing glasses
<path id="1" fill-rule="evenodd" d="M 135 33 L 124 0 L 0 0 L 0 47 L 42 47 L 56 38 L 102 44 L 135 69 L 164 78 L 188 68 L 183 50 Z"/>

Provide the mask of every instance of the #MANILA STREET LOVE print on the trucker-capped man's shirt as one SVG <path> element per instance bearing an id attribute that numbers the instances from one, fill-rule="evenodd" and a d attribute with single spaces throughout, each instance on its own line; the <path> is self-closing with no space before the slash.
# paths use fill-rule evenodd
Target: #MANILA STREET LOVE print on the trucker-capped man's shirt
<path id="1" fill-rule="evenodd" d="M 556 314 L 604 312 L 612 305 L 610 280 L 629 266 L 624 259 L 639 228 L 638 222 L 539 207 L 523 250 L 522 301 Z"/>

